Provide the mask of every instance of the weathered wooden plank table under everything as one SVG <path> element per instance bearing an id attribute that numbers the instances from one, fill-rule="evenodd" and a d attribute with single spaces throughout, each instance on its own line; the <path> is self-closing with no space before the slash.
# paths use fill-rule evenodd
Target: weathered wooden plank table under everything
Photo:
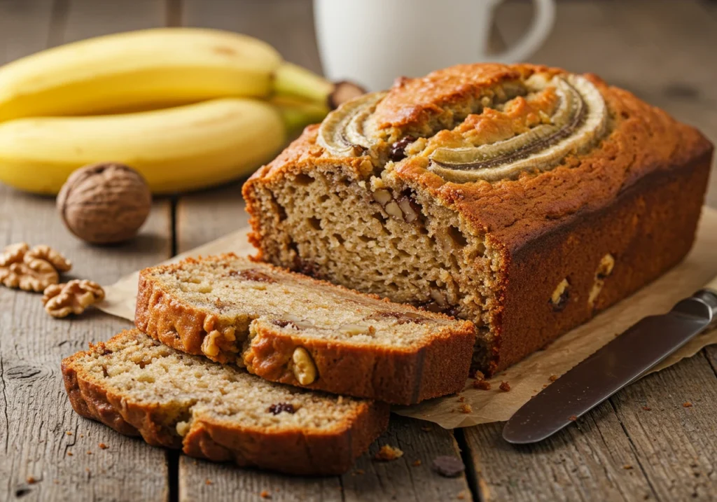
<path id="1" fill-rule="evenodd" d="M 319 70 L 311 15 L 309 0 L 0 0 L 0 62 L 169 24 L 252 34 Z M 523 2 L 501 7 L 500 33 L 516 37 L 529 16 Z M 572 1 L 560 4 L 534 61 L 596 72 L 714 140 L 716 49 L 714 4 Z M 717 207 L 717 176 L 711 187 L 708 203 Z M 98 248 L 68 234 L 54 200 L 0 186 L 0 245 L 53 245 L 72 258 L 77 277 L 112 283 L 237 229 L 246 223 L 242 206 L 239 184 L 158 199 L 137 240 Z M 75 415 L 60 359 L 125 327 L 97 311 L 55 321 L 38 295 L 0 288 L 0 500 L 255 501 L 263 490 L 274 501 L 717 499 L 715 346 L 642 379 L 535 446 L 506 444 L 499 423 L 451 432 L 394 417 L 377 444 L 400 447 L 402 459 L 376 463 L 364 455 L 341 477 L 302 479 L 197 461 Z M 432 458 L 447 454 L 462 456 L 465 476 L 430 471 Z"/>

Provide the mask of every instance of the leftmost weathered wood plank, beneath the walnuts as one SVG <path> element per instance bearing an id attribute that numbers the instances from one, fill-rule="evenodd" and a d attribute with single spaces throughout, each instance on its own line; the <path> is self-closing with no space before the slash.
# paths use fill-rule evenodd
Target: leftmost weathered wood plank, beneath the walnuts
<path id="1" fill-rule="evenodd" d="M 156 2 L 145 4 L 150 3 Z M 111 16 L 94 16 L 84 10 L 85 5 L 78 11 L 73 4 L 56 2 L 60 8 L 55 9 L 51 26 L 52 4 L 0 2 L 4 47 L 0 55 L 5 60 L 48 44 L 148 22 L 145 18 L 133 24 L 131 11 L 118 9 Z M 156 19 L 162 21 L 163 17 Z M 57 247 L 75 263 L 70 277 L 111 283 L 138 267 L 163 260 L 169 255 L 170 232 L 169 204 L 160 201 L 137 240 L 118 247 L 90 247 L 65 230 L 53 199 L 0 186 L 0 246 L 28 241 Z M 126 327 L 125 321 L 96 311 L 72 320 L 54 320 L 44 313 L 39 295 L 0 288 L 0 499 L 167 498 L 163 450 L 82 419 L 72 411 L 62 385 L 60 359 Z M 100 442 L 108 449 L 100 449 Z"/>

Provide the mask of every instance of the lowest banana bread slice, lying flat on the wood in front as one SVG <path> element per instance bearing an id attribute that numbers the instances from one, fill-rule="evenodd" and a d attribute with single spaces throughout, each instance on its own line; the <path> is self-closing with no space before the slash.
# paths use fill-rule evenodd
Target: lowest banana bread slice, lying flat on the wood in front
<path id="1" fill-rule="evenodd" d="M 63 360 L 62 375 L 83 417 L 192 457 L 283 473 L 344 473 L 389 422 L 386 404 L 267 382 L 137 330 Z"/>

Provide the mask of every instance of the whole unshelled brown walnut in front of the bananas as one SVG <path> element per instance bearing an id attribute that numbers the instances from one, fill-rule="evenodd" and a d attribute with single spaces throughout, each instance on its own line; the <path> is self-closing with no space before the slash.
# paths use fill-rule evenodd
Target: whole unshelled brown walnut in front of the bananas
<path id="1" fill-rule="evenodd" d="M 57 195 L 57 209 L 67 229 L 92 244 L 131 239 L 147 219 L 151 205 L 146 181 L 123 164 L 77 169 Z"/>

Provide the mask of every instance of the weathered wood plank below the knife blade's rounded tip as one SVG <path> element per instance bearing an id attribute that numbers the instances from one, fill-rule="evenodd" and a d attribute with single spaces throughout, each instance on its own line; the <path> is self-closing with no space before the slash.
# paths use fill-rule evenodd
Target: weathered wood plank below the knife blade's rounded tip
<path id="1" fill-rule="evenodd" d="M 642 501 L 654 498 L 611 404 L 538 443 L 515 447 L 503 423 L 465 429 L 484 501 Z M 635 469 L 625 468 L 627 465 Z"/>

